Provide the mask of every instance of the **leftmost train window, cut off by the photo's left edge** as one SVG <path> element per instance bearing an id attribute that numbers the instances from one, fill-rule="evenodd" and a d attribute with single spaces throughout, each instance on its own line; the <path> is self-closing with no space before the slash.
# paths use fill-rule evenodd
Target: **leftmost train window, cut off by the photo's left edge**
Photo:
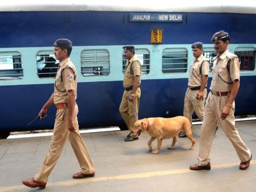
<path id="1" fill-rule="evenodd" d="M 0 80 L 23 79 L 20 52 L 0 52 Z"/>

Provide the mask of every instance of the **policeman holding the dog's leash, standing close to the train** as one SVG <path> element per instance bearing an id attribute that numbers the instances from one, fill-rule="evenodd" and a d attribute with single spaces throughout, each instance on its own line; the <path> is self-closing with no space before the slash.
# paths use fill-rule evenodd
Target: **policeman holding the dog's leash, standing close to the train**
<path id="1" fill-rule="evenodd" d="M 138 140 L 138 136 L 132 132 L 132 127 L 137 121 L 140 105 L 141 64 L 134 57 L 134 46 L 124 46 L 123 49 L 127 62 L 123 82 L 124 93 L 119 112 L 130 130 L 130 134 L 127 135 L 124 141 L 135 141 Z"/>

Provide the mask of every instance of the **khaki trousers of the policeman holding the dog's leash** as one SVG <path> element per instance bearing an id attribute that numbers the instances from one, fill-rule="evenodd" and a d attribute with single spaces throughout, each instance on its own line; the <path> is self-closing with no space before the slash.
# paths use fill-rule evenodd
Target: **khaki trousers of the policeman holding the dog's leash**
<path id="1" fill-rule="evenodd" d="M 132 91 L 124 90 L 122 101 L 119 106 L 119 112 L 120 112 L 121 116 L 123 117 L 124 122 L 126 123 L 126 126 L 130 130 L 130 132 L 132 132 L 132 127 L 134 126 L 134 123 L 137 121 L 135 113 L 133 111 L 132 102 L 130 102 L 127 99 L 127 96 L 129 96 L 131 93 L 132 93 Z M 137 115 L 138 115 L 138 109 L 140 107 L 140 95 L 141 95 L 140 88 L 137 88 L 136 98 L 133 101 L 133 105 L 135 107 L 135 111 L 136 111 Z M 137 137 L 137 135 L 136 135 L 136 133 L 132 133 L 132 134 L 130 134 L 130 137 L 135 138 L 135 137 Z"/>

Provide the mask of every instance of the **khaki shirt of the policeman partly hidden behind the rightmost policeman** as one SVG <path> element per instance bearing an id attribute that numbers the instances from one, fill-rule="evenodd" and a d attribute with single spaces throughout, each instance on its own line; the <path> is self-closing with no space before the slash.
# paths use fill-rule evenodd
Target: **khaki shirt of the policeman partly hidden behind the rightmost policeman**
<path id="1" fill-rule="evenodd" d="M 200 68 L 202 64 L 202 69 L 200 73 Z M 202 84 L 202 77 L 208 76 L 209 74 L 209 62 L 204 57 L 200 55 L 198 59 L 194 59 L 192 65 L 190 66 L 190 76 L 188 77 L 188 87 L 200 87 Z"/>

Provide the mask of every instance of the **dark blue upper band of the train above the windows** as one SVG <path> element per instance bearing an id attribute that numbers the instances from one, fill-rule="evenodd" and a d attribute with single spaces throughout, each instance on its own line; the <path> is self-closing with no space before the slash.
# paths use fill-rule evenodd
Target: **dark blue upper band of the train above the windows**
<path id="1" fill-rule="evenodd" d="M 52 46 L 62 37 L 76 46 L 148 44 L 150 29 L 163 29 L 163 44 L 212 43 L 216 30 L 230 32 L 231 43 L 256 43 L 256 15 L 185 15 L 183 23 L 149 24 L 129 22 L 129 12 L 1 12 L 0 48 Z"/>

